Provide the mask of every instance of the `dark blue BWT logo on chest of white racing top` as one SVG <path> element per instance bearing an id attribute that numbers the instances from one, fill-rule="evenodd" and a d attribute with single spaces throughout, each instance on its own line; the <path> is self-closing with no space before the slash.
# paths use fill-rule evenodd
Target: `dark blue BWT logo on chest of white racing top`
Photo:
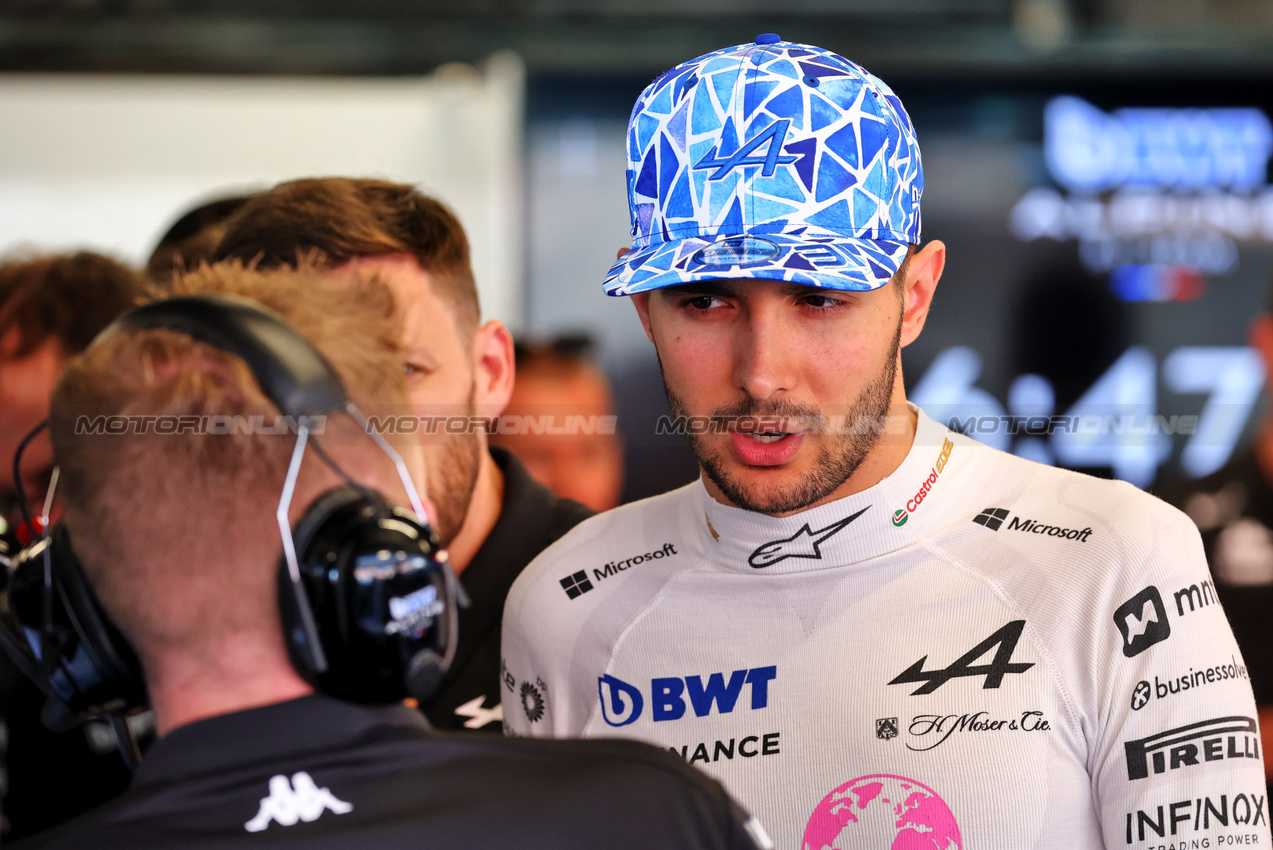
<path id="1" fill-rule="evenodd" d="M 775 678 L 778 668 L 773 665 L 733 671 L 728 679 L 724 673 L 712 673 L 707 682 L 701 676 L 652 678 L 651 718 L 656 723 L 680 720 L 685 716 L 686 696 L 696 716 L 712 714 L 713 705 L 718 714 L 729 714 L 738 704 L 745 685 L 751 686 L 751 709 L 764 709 L 769 705 L 769 683 Z M 640 688 L 608 673 L 597 678 L 597 696 L 601 700 L 601 718 L 612 727 L 635 723 L 645 707 Z"/>

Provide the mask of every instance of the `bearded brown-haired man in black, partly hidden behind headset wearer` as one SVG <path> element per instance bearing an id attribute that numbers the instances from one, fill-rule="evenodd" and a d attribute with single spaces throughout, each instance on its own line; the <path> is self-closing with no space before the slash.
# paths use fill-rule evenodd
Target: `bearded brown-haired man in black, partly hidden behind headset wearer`
<path id="1" fill-rule="evenodd" d="M 522 702 L 516 710 L 533 710 L 530 692 L 500 669 L 504 598 L 522 568 L 591 512 L 555 499 L 510 453 L 488 448 L 479 424 L 508 405 L 513 340 L 500 322 L 481 322 L 468 240 L 446 206 L 400 183 L 293 181 L 244 205 L 216 257 L 270 268 L 312 251 L 337 271 L 374 274 L 397 298 L 400 368 L 420 417 L 438 532 L 472 602 L 460 615 L 443 690 L 421 707 L 438 728 L 499 732 L 502 692 Z"/>

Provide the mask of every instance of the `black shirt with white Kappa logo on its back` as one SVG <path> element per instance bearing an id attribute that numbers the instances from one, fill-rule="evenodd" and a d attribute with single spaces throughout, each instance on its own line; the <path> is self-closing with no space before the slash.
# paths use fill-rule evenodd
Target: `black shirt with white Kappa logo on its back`
<path id="1" fill-rule="evenodd" d="M 181 727 L 116 800 L 28 850 L 756 850 L 712 779 L 633 741 L 440 733 L 401 705 L 306 696 Z"/>

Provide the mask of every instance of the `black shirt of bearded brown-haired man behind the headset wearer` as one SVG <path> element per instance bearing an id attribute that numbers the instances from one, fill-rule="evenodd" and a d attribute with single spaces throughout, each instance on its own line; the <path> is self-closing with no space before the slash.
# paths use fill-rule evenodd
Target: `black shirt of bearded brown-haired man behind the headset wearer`
<path id="1" fill-rule="evenodd" d="M 577 501 L 554 496 L 507 449 L 493 447 L 490 454 L 504 472 L 504 504 L 486 541 L 460 574 L 471 604 L 460 612 L 456 657 L 442 690 L 420 706 L 435 729 L 502 734 L 504 711 L 535 711 L 533 683 L 500 674 L 504 599 L 536 555 L 593 514 Z"/>

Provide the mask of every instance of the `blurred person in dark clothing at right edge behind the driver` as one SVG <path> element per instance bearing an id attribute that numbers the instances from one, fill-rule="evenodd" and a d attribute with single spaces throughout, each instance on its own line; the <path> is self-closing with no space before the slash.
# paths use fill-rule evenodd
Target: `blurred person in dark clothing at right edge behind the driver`
<path id="1" fill-rule="evenodd" d="M 1264 364 L 1265 388 L 1273 382 L 1273 289 L 1268 298 L 1249 332 L 1249 344 Z M 1178 594 L 1172 606 L 1180 616 L 1213 604 L 1228 615 L 1259 704 L 1268 753 L 1273 746 L 1273 410 L 1265 411 L 1250 448 L 1223 468 L 1197 481 L 1170 484 L 1161 495 L 1198 526 L 1211 565 L 1212 580 L 1202 583 L 1198 593 Z M 1273 758 L 1267 755 L 1264 777 L 1273 793 Z"/>

